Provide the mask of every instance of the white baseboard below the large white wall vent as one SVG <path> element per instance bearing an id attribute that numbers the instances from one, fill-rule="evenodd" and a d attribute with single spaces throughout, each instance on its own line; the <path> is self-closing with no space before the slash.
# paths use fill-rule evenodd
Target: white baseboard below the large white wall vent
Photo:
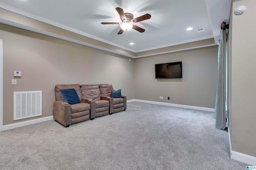
<path id="1" fill-rule="evenodd" d="M 16 127 L 32 125 L 34 123 L 40 123 L 40 122 L 48 121 L 48 120 L 52 120 L 52 119 L 53 119 L 53 116 L 48 116 L 48 117 L 42 117 L 42 118 L 32 119 L 32 120 L 28 120 L 28 121 L 22 121 L 22 122 L 18 122 L 18 123 L 12 123 L 12 124 L 9 124 L 9 125 L 3 125 L 2 126 L 2 131 L 6 131 L 6 130 L 9 130 L 9 129 L 14 129 Z"/>

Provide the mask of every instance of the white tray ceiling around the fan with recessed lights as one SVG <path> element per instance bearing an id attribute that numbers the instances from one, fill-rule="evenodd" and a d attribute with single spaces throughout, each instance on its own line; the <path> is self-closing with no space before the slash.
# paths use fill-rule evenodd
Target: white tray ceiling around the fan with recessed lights
<path id="1" fill-rule="evenodd" d="M 0 0 L 2 8 L 136 53 L 213 37 L 216 43 L 230 5 L 231 0 Z M 118 35 L 119 25 L 102 25 L 121 22 L 116 7 L 134 18 L 151 14 L 151 19 L 134 23 L 146 31 Z M 193 29 L 186 31 L 188 27 Z M 200 28 L 205 31 L 198 33 Z"/>

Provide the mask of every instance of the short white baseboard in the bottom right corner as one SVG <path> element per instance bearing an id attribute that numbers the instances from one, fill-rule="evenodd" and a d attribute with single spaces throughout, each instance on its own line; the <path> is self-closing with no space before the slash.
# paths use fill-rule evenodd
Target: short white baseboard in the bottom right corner
<path id="1" fill-rule="evenodd" d="M 256 157 L 231 150 L 230 157 L 234 160 L 244 162 L 248 166 L 256 166 Z"/>

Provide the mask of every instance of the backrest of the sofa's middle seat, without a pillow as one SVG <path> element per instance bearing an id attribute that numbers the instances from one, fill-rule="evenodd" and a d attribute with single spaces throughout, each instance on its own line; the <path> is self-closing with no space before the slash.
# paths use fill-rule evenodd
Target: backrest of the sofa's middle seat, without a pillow
<path id="1" fill-rule="evenodd" d="M 82 84 L 81 91 L 83 98 L 89 98 L 93 101 L 100 100 L 100 89 L 98 84 Z"/>

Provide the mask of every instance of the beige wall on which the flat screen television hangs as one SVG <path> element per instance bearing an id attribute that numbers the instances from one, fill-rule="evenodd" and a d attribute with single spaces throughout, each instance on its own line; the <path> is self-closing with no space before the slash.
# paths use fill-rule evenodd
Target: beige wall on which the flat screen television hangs
<path id="1" fill-rule="evenodd" d="M 155 64 L 178 61 L 182 61 L 182 79 L 155 79 Z M 135 98 L 214 108 L 217 78 L 217 46 L 138 58 L 135 60 Z"/>

